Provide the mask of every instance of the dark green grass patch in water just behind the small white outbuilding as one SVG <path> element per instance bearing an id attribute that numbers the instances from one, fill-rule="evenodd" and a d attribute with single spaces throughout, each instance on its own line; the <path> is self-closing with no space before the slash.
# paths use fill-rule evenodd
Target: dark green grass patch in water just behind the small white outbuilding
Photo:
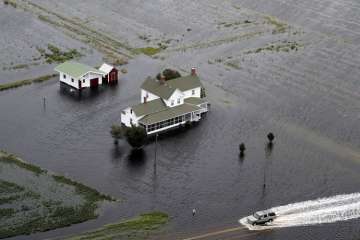
<path id="1" fill-rule="evenodd" d="M 76 49 L 70 49 L 68 51 L 62 51 L 60 48 L 48 44 L 47 50 L 42 48 L 37 48 L 42 57 L 45 58 L 46 62 L 51 63 L 63 63 L 69 61 L 74 58 L 81 57 L 81 53 L 79 53 Z"/>

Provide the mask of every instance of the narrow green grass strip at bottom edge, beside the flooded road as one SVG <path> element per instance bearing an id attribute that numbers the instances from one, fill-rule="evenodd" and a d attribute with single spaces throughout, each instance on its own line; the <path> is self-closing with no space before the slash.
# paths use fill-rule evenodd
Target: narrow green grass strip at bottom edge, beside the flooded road
<path id="1" fill-rule="evenodd" d="M 162 212 L 142 214 L 139 217 L 105 225 L 104 227 L 92 232 L 80 234 L 67 238 L 67 240 L 85 239 L 126 239 L 139 240 L 145 239 L 151 233 L 160 229 L 169 220 L 169 216 Z"/>

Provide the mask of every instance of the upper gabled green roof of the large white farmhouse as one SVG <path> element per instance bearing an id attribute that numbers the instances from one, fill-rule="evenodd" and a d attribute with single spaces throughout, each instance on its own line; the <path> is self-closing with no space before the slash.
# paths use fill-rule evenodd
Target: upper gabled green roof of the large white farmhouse
<path id="1" fill-rule="evenodd" d="M 160 81 L 153 78 L 147 78 L 141 85 L 141 88 L 151 92 L 163 99 L 169 99 L 176 89 L 180 91 L 187 91 L 197 87 L 202 87 L 200 78 L 198 76 L 186 76 L 179 77 L 166 81 L 164 84 L 160 84 Z"/>

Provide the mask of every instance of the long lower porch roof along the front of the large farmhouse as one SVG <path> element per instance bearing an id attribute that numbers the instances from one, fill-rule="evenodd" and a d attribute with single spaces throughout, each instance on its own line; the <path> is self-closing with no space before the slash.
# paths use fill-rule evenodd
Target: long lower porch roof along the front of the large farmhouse
<path id="1" fill-rule="evenodd" d="M 161 112 L 149 114 L 140 119 L 139 122 L 144 125 L 154 124 L 198 110 L 201 110 L 201 108 L 184 103 L 176 107 L 167 108 L 167 110 Z"/>

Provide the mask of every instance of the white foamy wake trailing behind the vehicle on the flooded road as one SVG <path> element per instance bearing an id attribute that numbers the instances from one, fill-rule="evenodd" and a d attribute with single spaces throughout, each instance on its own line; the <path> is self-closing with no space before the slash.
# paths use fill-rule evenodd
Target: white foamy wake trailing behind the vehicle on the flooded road
<path id="1" fill-rule="evenodd" d="M 277 218 L 263 226 L 252 226 L 247 217 L 239 220 L 250 230 L 306 226 L 346 221 L 360 217 L 360 193 L 336 195 L 269 209 Z"/>

